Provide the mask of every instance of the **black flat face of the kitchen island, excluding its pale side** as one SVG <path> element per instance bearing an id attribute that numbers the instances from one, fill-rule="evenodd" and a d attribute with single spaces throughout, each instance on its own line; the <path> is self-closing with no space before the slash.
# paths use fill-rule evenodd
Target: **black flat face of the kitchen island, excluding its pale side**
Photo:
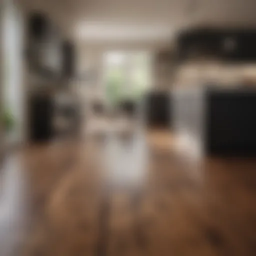
<path id="1" fill-rule="evenodd" d="M 256 154 L 256 92 L 207 90 L 205 149 L 209 154 Z"/>

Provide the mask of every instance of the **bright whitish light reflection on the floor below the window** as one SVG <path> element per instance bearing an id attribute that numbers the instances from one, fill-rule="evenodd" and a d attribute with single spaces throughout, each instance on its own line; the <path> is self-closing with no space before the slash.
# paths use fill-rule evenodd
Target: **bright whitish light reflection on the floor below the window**
<path id="1" fill-rule="evenodd" d="M 113 186 L 142 185 L 148 160 L 143 134 L 123 138 L 113 134 L 104 144 L 103 155 L 108 183 Z"/>

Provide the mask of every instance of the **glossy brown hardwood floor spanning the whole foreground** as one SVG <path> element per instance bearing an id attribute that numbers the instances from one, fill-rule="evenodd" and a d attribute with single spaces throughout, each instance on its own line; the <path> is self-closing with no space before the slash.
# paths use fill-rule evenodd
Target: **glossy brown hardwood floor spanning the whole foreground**
<path id="1" fill-rule="evenodd" d="M 19 239 L 0 255 L 255 255 L 256 160 L 193 160 L 172 141 L 153 131 L 28 146 L 7 189 Z"/>

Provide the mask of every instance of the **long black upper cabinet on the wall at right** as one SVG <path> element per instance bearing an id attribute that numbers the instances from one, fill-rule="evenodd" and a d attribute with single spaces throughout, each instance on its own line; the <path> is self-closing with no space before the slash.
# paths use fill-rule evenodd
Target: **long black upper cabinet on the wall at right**
<path id="1" fill-rule="evenodd" d="M 178 35 L 178 52 L 185 59 L 256 62 L 256 29 L 200 28 Z"/>

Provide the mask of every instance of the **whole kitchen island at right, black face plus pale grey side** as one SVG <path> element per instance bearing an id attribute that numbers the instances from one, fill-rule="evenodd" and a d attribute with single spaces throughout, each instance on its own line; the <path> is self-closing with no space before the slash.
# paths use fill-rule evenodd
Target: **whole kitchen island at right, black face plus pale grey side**
<path id="1" fill-rule="evenodd" d="M 173 92 L 173 127 L 206 155 L 256 155 L 256 91 L 206 88 Z M 193 150 L 193 149 L 191 149 Z"/>

